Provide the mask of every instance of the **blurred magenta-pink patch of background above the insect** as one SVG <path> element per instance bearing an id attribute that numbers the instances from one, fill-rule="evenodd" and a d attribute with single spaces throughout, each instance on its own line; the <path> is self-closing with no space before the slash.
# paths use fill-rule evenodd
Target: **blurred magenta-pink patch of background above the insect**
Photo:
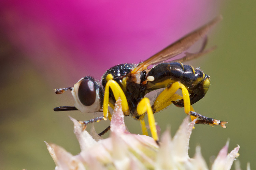
<path id="1" fill-rule="evenodd" d="M 99 79 L 111 66 L 143 61 L 206 23 L 213 8 L 205 0 L 9 0 L 0 3 L 0 24 L 43 71 Z"/>

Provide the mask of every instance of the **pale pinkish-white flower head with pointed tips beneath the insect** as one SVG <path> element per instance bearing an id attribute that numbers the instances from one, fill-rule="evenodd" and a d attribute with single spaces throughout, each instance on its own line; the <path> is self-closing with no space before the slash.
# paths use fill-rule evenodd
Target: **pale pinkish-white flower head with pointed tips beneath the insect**
<path id="1" fill-rule="evenodd" d="M 70 119 L 74 123 L 74 133 L 81 152 L 73 156 L 62 147 L 45 142 L 57 170 L 208 169 L 200 147 L 196 148 L 194 158 L 188 156 L 189 138 L 196 121 L 189 122 L 189 116 L 184 119 L 172 139 L 169 130 L 163 133 L 160 146 L 149 136 L 128 132 L 120 100 L 115 104 L 109 138 L 100 139 L 94 128 L 89 134 L 77 120 L 71 117 Z M 228 143 L 216 157 L 212 170 L 229 170 L 234 159 L 239 156 L 239 146 L 227 154 Z M 238 168 L 239 166 L 236 169 Z"/>

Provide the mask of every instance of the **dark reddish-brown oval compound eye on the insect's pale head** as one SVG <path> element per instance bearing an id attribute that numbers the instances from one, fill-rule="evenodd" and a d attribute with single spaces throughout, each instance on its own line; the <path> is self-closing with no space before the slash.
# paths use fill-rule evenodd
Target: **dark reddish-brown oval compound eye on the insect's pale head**
<path id="1" fill-rule="evenodd" d="M 81 80 L 78 88 L 78 98 L 85 106 L 94 104 L 96 99 L 96 90 L 93 81 L 88 79 Z"/>

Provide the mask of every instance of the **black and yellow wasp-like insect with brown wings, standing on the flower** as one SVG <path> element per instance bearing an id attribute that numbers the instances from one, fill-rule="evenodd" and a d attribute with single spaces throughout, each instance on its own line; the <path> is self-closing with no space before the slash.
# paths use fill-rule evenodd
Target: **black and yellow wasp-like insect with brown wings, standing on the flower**
<path id="1" fill-rule="evenodd" d="M 75 106 L 60 106 L 54 111 L 79 110 L 82 113 L 103 112 L 102 117 L 84 121 L 84 125 L 102 119 L 111 119 L 108 106 L 114 107 L 115 101 L 120 97 L 125 116 L 131 115 L 140 121 L 142 133 L 147 135 L 144 121 L 145 114 L 148 116 L 148 124 L 152 137 L 158 142 L 154 113 L 161 111 L 170 104 L 184 107 L 185 113 L 191 119 L 198 117 L 197 124 L 220 124 L 226 128 L 225 121 L 208 118 L 196 113 L 191 106 L 204 97 L 210 86 L 210 77 L 199 68 L 183 65 L 181 62 L 199 57 L 212 49 L 204 50 L 207 38 L 202 48 L 197 53 L 187 53 L 179 60 L 167 60 L 181 54 L 199 39 L 206 37 L 207 31 L 212 28 L 222 17 L 216 17 L 201 28 L 191 32 L 175 43 L 156 53 L 139 64 L 119 64 L 111 67 L 102 76 L 102 86 L 91 76 L 80 79 L 74 87 L 55 89 L 56 94 L 62 94 L 67 90 L 75 99 Z M 148 68 L 154 65 L 152 68 Z M 145 95 L 151 91 L 165 88 L 154 100 L 153 105 Z M 182 96 L 177 94 L 182 90 Z M 103 135 L 110 129 L 106 128 L 99 135 Z"/>

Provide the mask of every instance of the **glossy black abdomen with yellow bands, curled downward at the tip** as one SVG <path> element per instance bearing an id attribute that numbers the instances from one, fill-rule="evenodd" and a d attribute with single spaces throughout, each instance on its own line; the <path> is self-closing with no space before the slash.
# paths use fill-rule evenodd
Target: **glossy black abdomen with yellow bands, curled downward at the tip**
<path id="1" fill-rule="evenodd" d="M 178 62 L 158 64 L 148 72 L 146 78 L 149 80 L 148 91 L 168 87 L 174 82 L 182 83 L 191 94 L 191 104 L 202 99 L 210 86 L 210 77 L 202 70 Z M 183 100 L 174 104 L 179 107 L 184 106 Z"/>

